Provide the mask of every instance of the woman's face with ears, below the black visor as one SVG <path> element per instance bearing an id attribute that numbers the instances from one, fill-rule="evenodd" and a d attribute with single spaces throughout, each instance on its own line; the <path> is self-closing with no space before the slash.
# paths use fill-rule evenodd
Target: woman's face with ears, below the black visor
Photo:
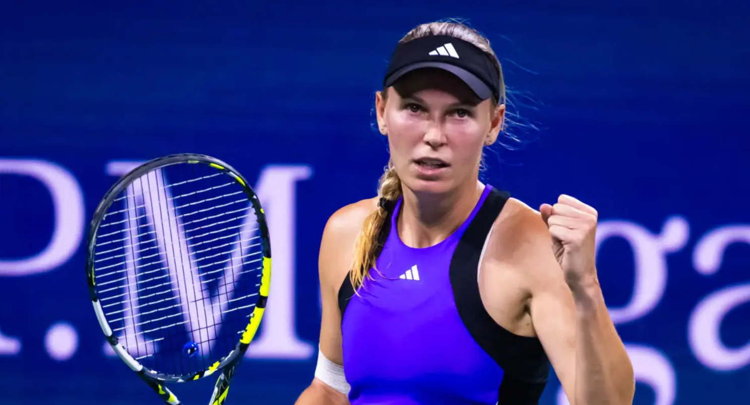
<path id="1" fill-rule="evenodd" d="M 407 74 L 386 92 L 377 95 L 378 124 L 402 184 L 415 193 L 474 187 L 482 148 L 497 138 L 505 106 L 479 100 L 437 69 Z"/>

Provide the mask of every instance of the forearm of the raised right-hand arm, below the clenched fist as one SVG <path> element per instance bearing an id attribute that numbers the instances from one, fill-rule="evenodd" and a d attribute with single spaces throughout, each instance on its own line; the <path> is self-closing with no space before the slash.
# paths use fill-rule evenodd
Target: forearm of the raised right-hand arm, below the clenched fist
<path id="1" fill-rule="evenodd" d="M 576 304 L 574 405 L 629 405 L 633 368 L 597 280 L 571 287 Z"/>

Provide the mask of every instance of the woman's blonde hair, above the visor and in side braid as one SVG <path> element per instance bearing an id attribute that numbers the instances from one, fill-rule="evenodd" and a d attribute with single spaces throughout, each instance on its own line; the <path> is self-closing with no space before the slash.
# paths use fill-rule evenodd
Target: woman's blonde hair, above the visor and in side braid
<path id="1" fill-rule="evenodd" d="M 404 43 L 416 38 L 428 37 L 431 35 L 449 35 L 456 37 L 460 40 L 472 43 L 479 49 L 487 52 L 490 55 L 500 73 L 500 92 L 499 100 L 493 99 L 493 105 L 505 103 L 505 85 L 502 80 L 502 68 L 500 62 L 490 47 L 490 41 L 486 37 L 479 34 L 473 28 L 463 25 L 458 22 L 436 22 L 427 23 L 417 26 L 409 31 L 399 43 Z M 385 90 L 385 89 L 384 89 Z M 381 93 L 383 99 L 386 98 L 386 92 Z M 480 162 L 480 169 L 483 169 L 483 160 Z M 401 189 L 401 179 L 398 178 L 398 173 L 393 166 L 392 161 L 389 161 L 386 166 L 385 172 L 380 176 L 378 181 L 378 196 L 380 199 L 386 199 L 389 202 L 395 203 L 402 195 L 403 190 Z M 386 224 L 386 220 L 389 217 L 389 208 L 387 205 L 378 204 L 378 207 L 365 219 L 365 223 L 362 225 L 362 231 L 359 233 L 359 237 L 356 241 L 354 263 L 350 272 L 350 281 L 357 293 L 358 287 L 362 285 L 365 278 L 372 278 L 370 275 L 370 269 L 375 269 L 377 256 L 380 254 L 380 249 L 383 246 L 380 245 L 380 233 L 383 230 L 383 226 Z"/>

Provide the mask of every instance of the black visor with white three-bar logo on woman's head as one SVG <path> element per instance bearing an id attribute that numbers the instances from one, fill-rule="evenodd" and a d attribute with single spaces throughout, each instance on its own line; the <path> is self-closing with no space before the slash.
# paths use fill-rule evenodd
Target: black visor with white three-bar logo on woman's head
<path id="1" fill-rule="evenodd" d="M 448 35 L 433 35 L 399 43 L 391 56 L 383 87 L 392 86 L 411 71 L 438 68 L 455 74 L 481 100 L 500 101 L 500 73 L 490 55 L 472 43 Z"/>

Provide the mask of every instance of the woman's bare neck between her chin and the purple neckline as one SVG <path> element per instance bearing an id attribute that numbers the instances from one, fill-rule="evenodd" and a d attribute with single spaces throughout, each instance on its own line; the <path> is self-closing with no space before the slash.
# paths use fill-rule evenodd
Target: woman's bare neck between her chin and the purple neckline
<path id="1" fill-rule="evenodd" d="M 404 201 L 396 222 L 405 245 L 427 248 L 448 238 L 469 217 L 484 184 L 467 182 L 445 195 L 413 193 L 404 187 Z"/>

